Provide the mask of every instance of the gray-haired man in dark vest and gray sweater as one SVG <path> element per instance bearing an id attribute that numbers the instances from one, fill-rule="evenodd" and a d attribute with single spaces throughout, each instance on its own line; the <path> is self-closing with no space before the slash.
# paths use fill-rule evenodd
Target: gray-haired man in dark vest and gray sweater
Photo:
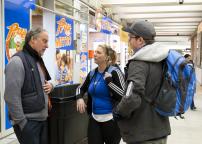
<path id="1" fill-rule="evenodd" d="M 5 101 L 20 144 L 48 144 L 48 94 L 53 85 L 41 56 L 48 48 L 48 33 L 31 29 L 23 50 L 5 68 Z"/>

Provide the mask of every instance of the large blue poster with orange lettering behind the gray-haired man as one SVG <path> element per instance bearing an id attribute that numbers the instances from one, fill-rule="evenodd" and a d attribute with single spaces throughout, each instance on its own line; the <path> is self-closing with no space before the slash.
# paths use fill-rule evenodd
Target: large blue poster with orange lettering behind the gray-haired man
<path id="1" fill-rule="evenodd" d="M 5 65 L 10 58 L 23 47 L 25 35 L 30 27 L 29 0 L 5 0 Z M 5 108 L 5 128 L 11 128 L 8 109 Z"/>

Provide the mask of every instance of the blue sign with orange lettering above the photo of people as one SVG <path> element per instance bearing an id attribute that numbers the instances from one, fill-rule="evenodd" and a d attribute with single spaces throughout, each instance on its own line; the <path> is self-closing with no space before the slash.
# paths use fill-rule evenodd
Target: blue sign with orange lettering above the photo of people
<path id="1" fill-rule="evenodd" d="M 56 15 L 56 49 L 73 50 L 74 49 L 74 23 L 70 18 Z"/>

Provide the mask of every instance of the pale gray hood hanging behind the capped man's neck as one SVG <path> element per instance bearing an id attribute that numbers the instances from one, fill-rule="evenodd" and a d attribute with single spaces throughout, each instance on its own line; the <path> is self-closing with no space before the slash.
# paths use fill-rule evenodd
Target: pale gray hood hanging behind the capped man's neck
<path id="1" fill-rule="evenodd" d="M 168 56 L 169 47 L 160 43 L 146 45 L 138 50 L 129 60 L 160 62 Z"/>

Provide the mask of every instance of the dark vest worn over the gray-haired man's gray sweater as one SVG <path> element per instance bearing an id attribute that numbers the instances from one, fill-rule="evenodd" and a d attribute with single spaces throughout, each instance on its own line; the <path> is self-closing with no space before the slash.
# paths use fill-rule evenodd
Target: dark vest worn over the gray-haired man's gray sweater
<path id="1" fill-rule="evenodd" d="M 24 113 L 39 112 L 45 107 L 45 98 L 37 61 L 28 52 L 15 54 L 23 62 L 25 78 L 21 89 L 22 107 Z"/>

